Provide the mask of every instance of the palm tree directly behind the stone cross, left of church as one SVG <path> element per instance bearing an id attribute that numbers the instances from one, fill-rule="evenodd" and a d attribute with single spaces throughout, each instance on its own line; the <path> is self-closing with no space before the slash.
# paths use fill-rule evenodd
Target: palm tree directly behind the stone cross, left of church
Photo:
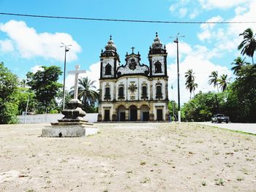
<path id="1" fill-rule="evenodd" d="M 78 79 L 78 99 L 83 103 L 84 110 L 88 110 L 90 106 L 94 106 L 95 102 L 99 99 L 99 93 L 97 93 L 94 82 L 88 79 L 88 77 L 83 77 Z M 70 91 L 72 96 L 74 96 L 74 88 Z"/>

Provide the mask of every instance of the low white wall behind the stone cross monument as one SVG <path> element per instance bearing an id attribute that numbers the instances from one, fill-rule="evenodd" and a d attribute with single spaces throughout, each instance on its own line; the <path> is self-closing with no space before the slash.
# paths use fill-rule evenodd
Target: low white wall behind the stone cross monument
<path id="1" fill-rule="evenodd" d="M 37 114 L 27 115 L 26 123 L 57 123 L 59 119 L 63 118 L 64 115 L 58 114 Z M 87 113 L 84 120 L 88 120 L 90 123 L 97 122 L 98 113 Z M 18 115 L 18 122 L 23 124 L 25 122 L 25 115 Z"/>

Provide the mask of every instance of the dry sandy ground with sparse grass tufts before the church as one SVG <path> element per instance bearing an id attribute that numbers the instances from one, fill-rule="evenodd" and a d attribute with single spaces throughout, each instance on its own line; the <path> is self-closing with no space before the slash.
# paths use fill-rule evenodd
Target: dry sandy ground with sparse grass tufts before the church
<path id="1" fill-rule="evenodd" d="M 0 126 L 0 191 L 256 191 L 256 136 L 181 123 L 97 124 L 86 138 Z"/>

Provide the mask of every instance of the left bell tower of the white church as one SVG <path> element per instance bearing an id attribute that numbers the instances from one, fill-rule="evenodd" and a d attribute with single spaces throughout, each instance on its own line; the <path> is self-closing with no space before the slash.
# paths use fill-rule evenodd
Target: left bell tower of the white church
<path id="1" fill-rule="evenodd" d="M 100 54 L 100 80 L 116 78 L 116 69 L 120 64 L 120 58 L 116 52 L 116 45 L 110 39 L 108 44 L 105 46 L 105 51 L 102 50 Z"/>

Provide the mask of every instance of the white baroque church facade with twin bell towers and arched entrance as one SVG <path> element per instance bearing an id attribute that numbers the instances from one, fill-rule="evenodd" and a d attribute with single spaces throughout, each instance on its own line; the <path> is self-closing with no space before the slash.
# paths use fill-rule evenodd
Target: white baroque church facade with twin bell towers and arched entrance
<path id="1" fill-rule="evenodd" d="M 168 120 L 167 52 L 158 35 L 149 47 L 149 66 L 140 53 L 126 55 L 120 65 L 112 37 L 100 55 L 98 121 Z"/>

